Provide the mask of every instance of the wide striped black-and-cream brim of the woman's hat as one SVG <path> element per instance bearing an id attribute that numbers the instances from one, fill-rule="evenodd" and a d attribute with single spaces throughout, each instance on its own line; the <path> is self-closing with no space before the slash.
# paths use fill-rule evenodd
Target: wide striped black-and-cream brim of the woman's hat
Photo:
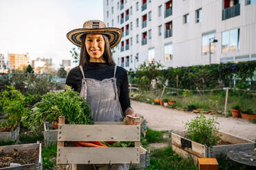
<path id="1" fill-rule="evenodd" d="M 67 33 L 67 39 L 69 39 L 74 45 L 81 47 L 81 42 L 84 34 L 104 34 L 109 38 L 110 48 L 115 47 L 121 40 L 122 29 L 117 27 L 105 27 L 98 29 L 86 29 L 86 28 L 78 28 L 73 29 L 72 31 Z"/>

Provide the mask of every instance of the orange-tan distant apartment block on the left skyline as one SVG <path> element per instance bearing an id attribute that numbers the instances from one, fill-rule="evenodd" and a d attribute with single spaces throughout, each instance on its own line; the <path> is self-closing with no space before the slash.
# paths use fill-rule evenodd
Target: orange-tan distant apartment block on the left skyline
<path id="1" fill-rule="evenodd" d="M 9 53 L 10 67 L 11 69 L 23 70 L 28 66 L 29 53 Z"/>

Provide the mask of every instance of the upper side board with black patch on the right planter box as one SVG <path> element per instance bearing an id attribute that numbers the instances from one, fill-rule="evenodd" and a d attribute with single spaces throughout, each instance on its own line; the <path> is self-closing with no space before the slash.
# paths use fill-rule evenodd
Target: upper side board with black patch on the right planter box
<path id="1" fill-rule="evenodd" d="M 182 143 L 181 143 L 182 139 L 184 141 L 191 143 L 191 147 L 189 148 L 189 147 L 182 146 Z M 202 157 L 202 158 L 206 156 L 204 145 L 191 141 L 188 138 L 184 138 L 178 134 L 171 133 L 171 143 L 176 147 L 179 147 L 180 149 L 184 149 L 185 151 L 188 151 L 189 153 L 195 156 Z"/>

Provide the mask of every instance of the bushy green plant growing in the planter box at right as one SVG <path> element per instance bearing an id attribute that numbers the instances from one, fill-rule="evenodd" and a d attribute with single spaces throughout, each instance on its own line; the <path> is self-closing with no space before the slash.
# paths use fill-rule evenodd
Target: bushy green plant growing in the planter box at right
<path id="1" fill-rule="evenodd" d="M 187 121 L 184 125 L 185 137 L 192 141 L 202 143 L 203 145 L 213 146 L 220 141 L 219 123 L 214 117 L 206 119 L 202 112 L 200 116 L 195 117 L 191 121 Z"/>

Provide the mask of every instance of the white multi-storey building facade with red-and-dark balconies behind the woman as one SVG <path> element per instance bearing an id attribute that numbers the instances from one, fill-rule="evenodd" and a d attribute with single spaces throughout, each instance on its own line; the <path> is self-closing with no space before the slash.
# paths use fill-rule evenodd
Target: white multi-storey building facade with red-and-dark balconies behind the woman
<path id="1" fill-rule="evenodd" d="M 103 10 L 122 29 L 114 60 L 125 69 L 256 60 L 256 0 L 103 0 Z"/>

